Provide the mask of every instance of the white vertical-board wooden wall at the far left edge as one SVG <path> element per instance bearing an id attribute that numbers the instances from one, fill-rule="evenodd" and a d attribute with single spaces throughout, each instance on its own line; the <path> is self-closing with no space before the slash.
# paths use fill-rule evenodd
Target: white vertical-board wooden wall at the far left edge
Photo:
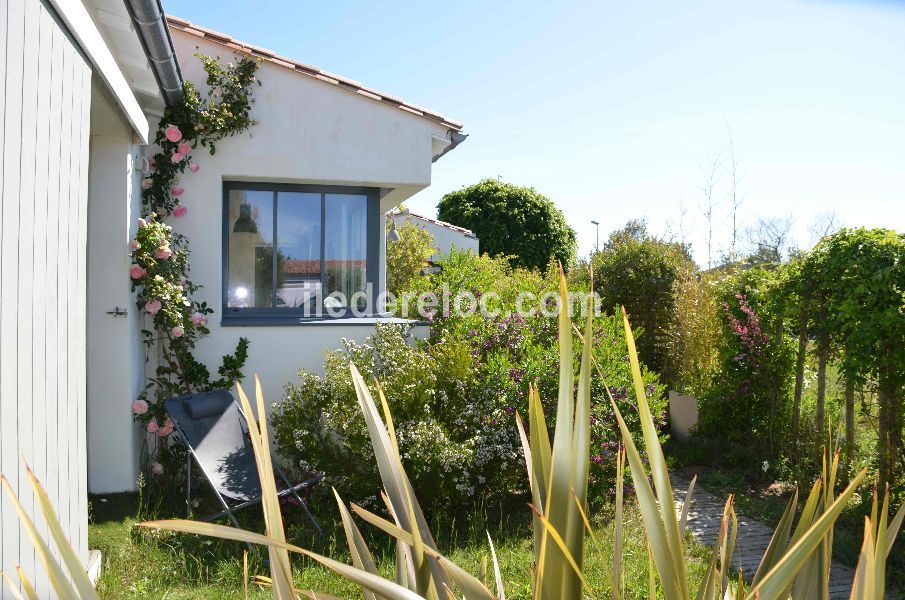
<path id="1" fill-rule="evenodd" d="M 0 82 L 0 468 L 34 514 L 28 461 L 85 562 L 91 69 L 40 0 L 3 0 Z M 2 569 L 21 564 L 50 597 L 5 495 L 0 524 Z"/>

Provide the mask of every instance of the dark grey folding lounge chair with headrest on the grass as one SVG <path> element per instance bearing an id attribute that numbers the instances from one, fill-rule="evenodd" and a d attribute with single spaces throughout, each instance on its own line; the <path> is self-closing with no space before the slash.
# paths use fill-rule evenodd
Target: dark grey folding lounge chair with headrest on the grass
<path id="1" fill-rule="evenodd" d="M 188 447 L 186 503 L 189 513 L 192 510 L 191 474 L 194 458 L 223 506 L 222 511 L 202 520 L 213 521 L 228 516 L 233 525 L 239 527 L 233 513 L 261 502 L 261 481 L 242 408 L 226 390 L 170 398 L 164 406 L 175 425 L 176 433 Z M 278 477 L 277 485 L 282 482 L 279 496 L 295 497 L 317 529 L 318 535 L 322 535 L 320 525 L 299 496 L 299 491 L 314 486 L 323 476 L 317 475 L 293 485 L 279 467 L 275 466 L 274 471 Z"/>

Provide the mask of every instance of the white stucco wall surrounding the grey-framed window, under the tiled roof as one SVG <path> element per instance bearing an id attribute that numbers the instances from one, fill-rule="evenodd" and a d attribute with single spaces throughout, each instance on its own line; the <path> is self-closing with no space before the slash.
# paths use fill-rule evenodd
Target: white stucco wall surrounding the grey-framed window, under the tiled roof
<path id="1" fill-rule="evenodd" d="M 196 85 L 203 84 L 205 76 L 194 53 L 232 60 L 231 50 L 220 44 L 175 29 L 172 35 L 183 76 Z M 223 182 L 376 187 L 384 190 L 381 209 L 387 211 L 430 184 L 432 138 L 447 131 L 270 62 L 261 64 L 258 78 L 263 85 L 254 90 L 252 111 L 257 124 L 221 142 L 212 157 L 197 152 L 200 171 L 186 173 L 180 184 L 186 190 L 182 203 L 188 214 L 172 221 L 190 240 L 191 278 L 204 286 L 198 298 L 216 310 L 210 337 L 197 346 L 198 358 L 215 372 L 240 337 L 250 338 L 245 374 L 249 381 L 255 373 L 261 376 L 269 404 L 279 399 L 300 368 L 321 371 L 325 351 L 340 347 L 344 337 L 363 341 L 373 325 L 221 326 Z M 383 236 L 380 243 L 384 257 Z M 379 281 L 383 287 L 385 260 Z"/>

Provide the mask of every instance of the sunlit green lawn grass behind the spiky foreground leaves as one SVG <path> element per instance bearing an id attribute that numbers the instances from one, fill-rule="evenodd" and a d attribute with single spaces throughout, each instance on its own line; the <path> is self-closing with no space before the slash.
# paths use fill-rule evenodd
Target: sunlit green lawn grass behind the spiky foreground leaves
<path id="1" fill-rule="evenodd" d="M 98 589 L 104 598 L 161 597 L 245 598 L 243 590 L 242 554 L 244 546 L 188 535 L 149 533 L 134 527 L 138 522 L 137 494 L 110 494 L 92 497 L 93 522 L 88 528 L 91 548 L 101 550 L 104 568 Z M 326 527 L 324 539 L 318 541 L 310 528 L 303 526 L 297 508 L 287 506 L 288 537 L 292 543 L 315 549 L 338 560 L 348 561 L 345 538 L 339 523 Z M 260 513 L 245 511 L 243 526 L 263 530 Z M 490 518 L 493 537 L 506 586 L 507 598 L 527 600 L 531 597 L 529 568 L 533 559 L 527 508 L 516 516 Z M 612 559 L 613 531 L 608 514 L 599 514 L 600 547 L 588 545 L 585 575 L 597 597 L 609 596 L 609 565 Z M 481 523 L 485 521 L 481 519 Z M 368 527 L 359 522 L 363 533 Z M 432 526 L 440 550 L 453 562 L 474 574 L 481 573 L 487 557 L 486 533 L 462 522 L 440 522 Z M 386 538 L 374 535 L 369 542 L 381 572 L 392 577 L 394 549 Z M 625 514 L 626 598 L 648 598 L 647 542 L 637 508 L 627 501 Z M 709 549 L 688 538 L 688 565 L 692 581 L 700 581 L 709 561 Z M 295 581 L 300 589 L 313 589 L 340 598 L 360 598 L 357 586 L 332 571 L 309 560 L 293 557 Z M 249 554 L 249 573 L 264 573 L 266 568 L 256 554 Z M 492 579 L 492 574 L 489 578 Z M 251 586 L 250 598 L 270 598 L 269 590 Z"/>

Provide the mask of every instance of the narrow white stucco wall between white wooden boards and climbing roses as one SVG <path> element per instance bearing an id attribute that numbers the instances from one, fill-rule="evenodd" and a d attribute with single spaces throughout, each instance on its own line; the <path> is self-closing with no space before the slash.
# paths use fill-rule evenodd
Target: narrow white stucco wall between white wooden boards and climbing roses
<path id="1" fill-rule="evenodd" d="M 138 477 L 131 402 L 144 388 L 142 316 L 130 290 L 128 243 L 141 207 L 143 146 L 95 85 L 88 182 L 88 490 L 119 492 Z M 124 316 L 108 314 L 120 308 Z"/>

